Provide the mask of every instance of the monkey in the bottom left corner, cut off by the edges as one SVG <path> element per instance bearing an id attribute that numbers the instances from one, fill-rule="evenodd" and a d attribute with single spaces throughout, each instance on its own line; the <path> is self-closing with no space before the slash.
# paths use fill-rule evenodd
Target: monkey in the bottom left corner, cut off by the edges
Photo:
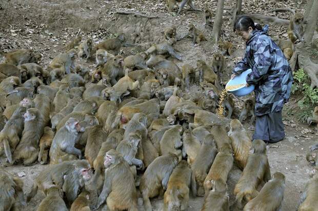
<path id="1" fill-rule="evenodd" d="M 23 210 L 27 205 L 23 180 L 0 168 L 0 187 L 0 210 Z"/>

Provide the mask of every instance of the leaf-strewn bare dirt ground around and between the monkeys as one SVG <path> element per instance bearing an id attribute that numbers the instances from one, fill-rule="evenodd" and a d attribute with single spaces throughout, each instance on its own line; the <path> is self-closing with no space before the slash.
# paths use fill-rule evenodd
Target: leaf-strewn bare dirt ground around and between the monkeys
<path id="1" fill-rule="evenodd" d="M 216 12 L 216 1 L 193 1 L 194 5 L 204 10 L 209 8 Z M 226 8 L 232 8 L 234 1 L 225 1 Z M 246 13 L 266 14 L 267 10 L 289 6 L 292 9 L 304 11 L 305 3 L 296 4 L 294 1 L 243 1 L 243 11 Z M 188 9 L 188 8 L 187 8 Z M 134 17 L 132 15 L 116 14 L 117 10 L 146 12 L 147 15 L 156 15 L 158 18 L 147 20 L 146 17 Z M 229 11 L 229 10 L 225 10 Z M 63 51 L 63 46 L 68 43 L 77 32 L 83 37 L 92 37 L 94 43 L 105 40 L 107 37 L 114 36 L 118 32 L 125 32 L 130 39 L 131 33 L 136 27 L 141 27 L 149 31 L 150 36 L 162 36 L 161 31 L 172 24 L 177 26 L 177 36 L 187 33 L 187 25 L 195 24 L 208 37 L 211 32 L 210 27 L 204 27 L 204 17 L 202 12 L 186 10 L 180 16 L 173 16 L 167 13 L 165 1 L 59 1 L 59 0 L 14 0 L 0 1 L 0 50 L 9 51 L 16 48 L 31 48 L 43 54 L 42 65 L 47 66 L 49 61 Z M 287 18 L 288 13 L 280 13 L 280 17 Z M 228 56 L 226 60 L 226 77 L 229 76 L 234 62 L 241 59 L 244 54 L 245 44 L 232 32 L 230 14 L 225 12 L 223 23 L 223 34 L 225 40 L 234 44 L 234 54 Z M 144 24 L 146 23 L 146 27 Z M 80 30 L 79 30 L 80 29 Z M 271 35 L 279 34 L 287 37 L 286 28 L 274 27 L 270 25 Z M 209 40 L 209 39 L 208 39 Z M 124 48 L 124 56 L 145 50 L 149 44 L 138 45 L 135 48 Z M 184 56 L 184 61 L 175 61 L 178 66 L 189 63 L 195 66 L 196 60 L 203 59 L 210 61 L 214 46 L 210 41 L 198 46 L 191 46 L 190 40 L 178 42 L 174 48 Z M 1 61 L 1 57 L 0 57 Z M 84 61 L 77 59 L 77 64 L 88 67 L 93 66 L 93 60 Z M 195 87 L 192 87 L 192 91 Z M 196 90 L 197 91 L 197 90 Z M 242 106 L 242 99 L 236 102 L 235 114 Z M 286 176 L 286 189 L 284 194 L 283 210 L 294 210 L 298 204 L 300 194 L 308 181 L 308 172 L 311 166 L 306 162 L 306 153 L 309 147 L 318 141 L 318 132 L 315 128 L 308 128 L 292 121 L 292 117 L 285 116 L 286 138 L 277 144 L 268 145 L 268 159 L 272 174 L 280 171 Z M 245 124 L 245 128 L 253 133 L 253 127 Z M 310 130 L 306 130 L 310 129 Z M 33 166 L 11 166 L 6 170 L 17 175 L 24 172 L 22 177 L 25 183 L 25 191 L 29 191 L 32 181 L 45 169 L 46 165 L 35 164 Z M 228 179 L 228 193 L 233 202 L 233 189 L 241 170 L 234 167 Z M 44 194 L 38 193 L 31 200 L 25 210 L 36 210 L 37 205 L 44 198 Z M 188 210 L 200 210 L 203 198 L 191 198 Z M 155 210 L 162 210 L 163 200 L 153 199 Z M 141 210 L 143 210 L 141 208 Z"/>

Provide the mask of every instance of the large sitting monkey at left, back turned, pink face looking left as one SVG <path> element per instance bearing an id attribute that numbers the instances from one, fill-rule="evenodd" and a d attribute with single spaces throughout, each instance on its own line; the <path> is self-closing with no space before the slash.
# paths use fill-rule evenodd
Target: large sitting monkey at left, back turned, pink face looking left
<path id="1" fill-rule="evenodd" d="M 13 152 L 13 161 L 23 160 L 24 165 L 36 161 L 38 142 L 44 133 L 43 117 L 37 108 L 29 108 L 24 114 L 24 130 L 22 138 Z"/>

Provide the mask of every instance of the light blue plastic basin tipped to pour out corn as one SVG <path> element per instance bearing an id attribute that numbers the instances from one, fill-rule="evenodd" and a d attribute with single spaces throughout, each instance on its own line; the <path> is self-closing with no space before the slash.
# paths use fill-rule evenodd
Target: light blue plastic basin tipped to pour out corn
<path id="1" fill-rule="evenodd" d="M 244 72 L 242 72 L 242 74 L 235 76 L 234 79 L 231 79 L 226 84 L 226 86 L 228 86 L 228 85 L 246 84 L 246 75 L 248 73 L 250 73 L 250 72 L 252 72 L 252 69 L 245 70 Z M 231 90 L 229 92 L 231 92 L 232 94 L 234 94 L 237 97 L 242 97 L 242 96 L 247 95 L 247 94 L 251 93 L 252 91 L 254 91 L 254 88 L 255 87 L 253 85 L 250 85 L 248 87 L 243 86 L 241 88 L 233 89 L 233 90 Z"/>

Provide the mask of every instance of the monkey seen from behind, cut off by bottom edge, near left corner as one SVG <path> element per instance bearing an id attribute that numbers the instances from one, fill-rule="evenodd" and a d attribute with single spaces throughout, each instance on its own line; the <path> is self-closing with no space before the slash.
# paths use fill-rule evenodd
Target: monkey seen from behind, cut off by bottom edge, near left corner
<path id="1" fill-rule="evenodd" d="M 68 211 L 66 204 L 63 200 L 63 192 L 56 186 L 47 189 L 46 197 L 38 205 L 36 211 Z"/>

